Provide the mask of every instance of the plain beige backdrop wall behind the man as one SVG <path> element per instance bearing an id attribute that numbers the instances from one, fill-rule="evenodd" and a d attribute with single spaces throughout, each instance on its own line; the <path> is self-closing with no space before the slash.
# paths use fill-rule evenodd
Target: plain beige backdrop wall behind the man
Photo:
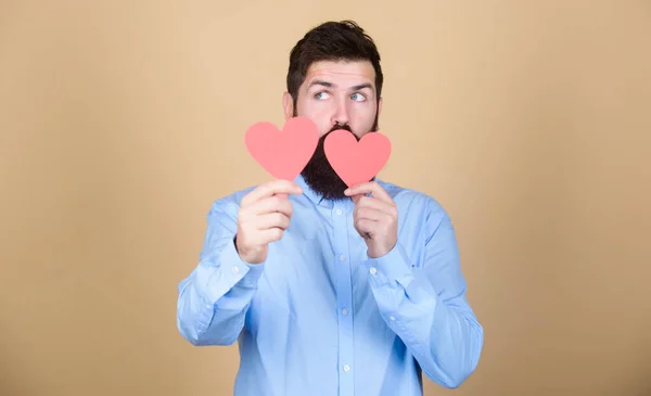
<path id="1" fill-rule="evenodd" d="M 485 328 L 426 395 L 651 395 L 651 2 L 614 0 L 1 2 L 0 395 L 231 394 L 176 288 L 331 18 L 380 46 L 381 176 L 448 209 Z"/>

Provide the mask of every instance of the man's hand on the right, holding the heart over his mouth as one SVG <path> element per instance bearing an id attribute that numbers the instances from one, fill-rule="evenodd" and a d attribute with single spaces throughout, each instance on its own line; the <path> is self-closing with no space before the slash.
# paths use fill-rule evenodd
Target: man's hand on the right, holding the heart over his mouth
<path id="1" fill-rule="evenodd" d="M 371 196 L 366 196 L 370 193 Z M 380 257 L 394 248 L 398 240 L 398 208 L 376 182 L 354 186 L 345 191 L 355 202 L 355 229 L 363 238 L 369 257 Z"/>

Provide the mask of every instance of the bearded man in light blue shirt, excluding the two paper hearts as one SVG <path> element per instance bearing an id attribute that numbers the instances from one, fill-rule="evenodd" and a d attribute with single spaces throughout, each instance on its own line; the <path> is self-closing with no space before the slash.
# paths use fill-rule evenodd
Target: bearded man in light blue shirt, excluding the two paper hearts
<path id="1" fill-rule="evenodd" d="M 455 230 L 431 196 L 373 178 L 348 188 L 323 142 L 378 131 L 383 74 L 373 40 L 327 22 L 293 48 L 285 118 L 316 124 L 293 181 L 213 203 L 177 323 L 191 344 L 240 350 L 235 396 L 422 395 L 475 370 L 483 328 L 467 297 Z"/>

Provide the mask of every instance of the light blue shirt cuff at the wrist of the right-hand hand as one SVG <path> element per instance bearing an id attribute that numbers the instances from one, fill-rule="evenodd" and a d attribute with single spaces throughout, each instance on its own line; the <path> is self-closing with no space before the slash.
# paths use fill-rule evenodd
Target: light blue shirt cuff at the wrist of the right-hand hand
<path id="1" fill-rule="evenodd" d="M 383 256 L 376 258 L 367 256 L 365 266 L 369 271 L 371 282 L 375 285 L 398 282 L 406 288 L 413 279 L 411 263 L 399 242 Z"/>

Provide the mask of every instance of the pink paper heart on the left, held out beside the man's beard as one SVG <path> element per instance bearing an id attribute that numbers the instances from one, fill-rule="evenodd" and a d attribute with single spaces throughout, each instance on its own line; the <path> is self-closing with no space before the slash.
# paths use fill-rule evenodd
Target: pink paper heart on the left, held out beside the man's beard
<path id="1" fill-rule="evenodd" d="M 277 179 L 294 180 L 305 168 L 319 143 L 319 129 L 305 117 L 290 118 L 282 131 L 268 122 L 246 130 L 246 149 Z"/>

